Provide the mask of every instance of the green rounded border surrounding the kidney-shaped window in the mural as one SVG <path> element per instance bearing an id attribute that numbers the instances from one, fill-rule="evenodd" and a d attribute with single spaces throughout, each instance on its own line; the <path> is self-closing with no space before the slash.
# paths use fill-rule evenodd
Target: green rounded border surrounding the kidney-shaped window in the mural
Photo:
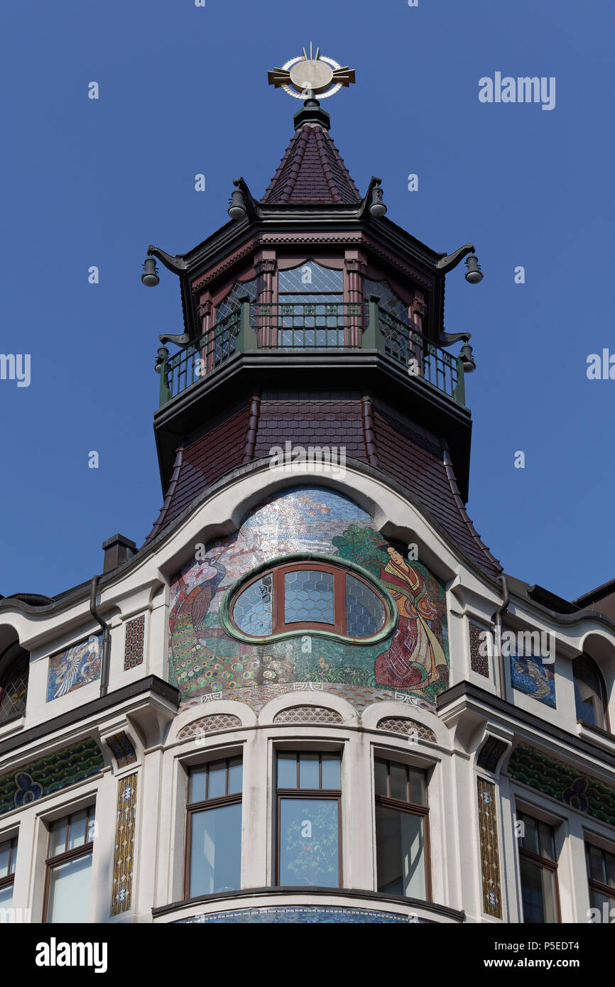
<path id="1" fill-rule="evenodd" d="M 247 585 L 255 579 L 255 577 L 258 577 L 262 573 L 269 572 L 269 569 L 275 569 L 277 566 L 285 566 L 288 563 L 293 562 L 326 563 L 328 566 L 337 566 L 338 569 L 346 569 L 348 572 L 356 572 L 357 575 L 360 575 L 360 577 L 365 580 L 367 585 L 372 586 L 374 592 L 378 593 L 378 595 L 384 599 L 387 605 L 389 613 L 382 630 L 378 631 L 378 633 L 372 638 L 364 639 L 345 638 L 340 634 L 334 634 L 332 631 L 319 631 L 315 628 L 309 628 L 309 630 L 302 628 L 298 631 L 284 631 L 283 634 L 271 634 L 265 638 L 253 638 L 236 628 L 231 621 L 230 608 L 232 600 L 236 595 L 239 595 L 242 586 Z M 341 641 L 346 645 L 352 645 L 352 647 L 361 647 L 363 645 L 377 645 L 379 642 L 384 641 L 390 635 L 394 634 L 399 623 L 399 613 L 389 590 L 386 589 L 379 581 L 374 579 L 373 574 L 369 571 L 369 569 L 363 569 L 363 567 L 357 565 L 357 563 L 351 562 L 348 559 L 341 559 L 340 556 L 315 555 L 313 552 L 294 552 L 290 555 L 278 556 L 276 559 L 269 559 L 268 562 L 261 563 L 260 566 L 257 566 L 255 569 L 251 569 L 250 572 L 246 573 L 246 575 L 242 576 L 231 586 L 229 586 L 220 603 L 219 620 L 228 635 L 232 638 L 236 638 L 238 641 L 243 641 L 248 645 L 268 645 L 273 641 L 284 641 L 286 638 L 318 637 L 330 638 L 332 641 Z"/>

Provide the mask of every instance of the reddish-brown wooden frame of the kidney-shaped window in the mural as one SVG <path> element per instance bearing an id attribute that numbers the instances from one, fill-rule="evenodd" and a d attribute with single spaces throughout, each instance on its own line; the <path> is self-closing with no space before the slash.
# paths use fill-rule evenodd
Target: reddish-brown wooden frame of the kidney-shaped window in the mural
<path id="1" fill-rule="evenodd" d="M 285 585 L 285 575 L 287 572 L 297 572 L 300 570 L 308 570 L 315 572 L 329 572 L 334 576 L 334 623 L 324 624 L 319 621 L 295 621 L 292 624 L 286 624 L 285 617 L 285 596 L 284 596 L 284 585 Z M 233 627 L 244 635 L 246 638 L 257 638 L 257 635 L 249 635 L 245 631 L 242 631 L 238 627 L 235 617 L 234 609 L 235 604 L 239 597 L 244 593 L 253 583 L 258 582 L 260 579 L 264 578 L 266 575 L 272 576 L 271 583 L 271 633 L 270 635 L 265 635 L 264 637 L 274 637 L 276 635 L 288 634 L 292 631 L 326 631 L 329 634 L 336 634 L 339 637 L 346 638 L 347 641 L 360 641 L 369 642 L 377 634 L 380 634 L 382 628 L 386 625 L 389 619 L 389 607 L 386 600 L 384 599 L 382 593 L 379 593 L 375 586 L 372 586 L 367 579 L 363 578 L 358 572 L 352 571 L 350 569 L 344 569 L 342 566 L 334 566 L 330 563 L 319 562 L 315 559 L 313 561 L 307 562 L 289 562 L 283 563 L 280 566 L 274 566 L 271 569 L 267 569 L 265 572 L 260 572 L 253 579 L 242 584 L 240 589 L 234 595 L 231 606 L 229 608 L 230 619 Z M 379 599 L 382 607 L 384 609 L 384 620 L 377 631 L 370 635 L 369 638 L 352 638 L 347 634 L 346 631 L 346 575 L 352 575 L 359 582 L 362 582 L 367 589 Z"/>

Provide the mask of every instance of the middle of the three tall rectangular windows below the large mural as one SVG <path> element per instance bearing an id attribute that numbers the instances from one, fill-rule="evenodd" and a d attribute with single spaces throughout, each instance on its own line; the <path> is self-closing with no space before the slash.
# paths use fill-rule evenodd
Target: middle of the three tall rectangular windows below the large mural
<path id="1" fill-rule="evenodd" d="M 342 757 L 277 754 L 277 883 L 341 887 Z"/>

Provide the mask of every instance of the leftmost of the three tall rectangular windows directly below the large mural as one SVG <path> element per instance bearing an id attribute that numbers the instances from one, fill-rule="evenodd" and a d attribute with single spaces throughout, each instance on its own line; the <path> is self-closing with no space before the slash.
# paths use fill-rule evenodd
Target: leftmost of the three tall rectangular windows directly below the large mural
<path id="1" fill-rule="evenodd" d="M 187 896 L 241 887 L 242 759 L 192 768 L 188 797 Z"/>

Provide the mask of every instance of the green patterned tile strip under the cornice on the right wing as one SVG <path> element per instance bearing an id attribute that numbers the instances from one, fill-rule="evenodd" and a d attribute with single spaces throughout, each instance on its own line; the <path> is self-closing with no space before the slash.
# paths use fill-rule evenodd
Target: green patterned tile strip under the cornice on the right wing
<path id="1" fill-rule="evenodd" d="M 554 761 L 533 747 L 520 745 L 512 752 L 508 774 L 517 782 L 615 826 L 615 788 L 579 774 L 563 761 Z"/>

